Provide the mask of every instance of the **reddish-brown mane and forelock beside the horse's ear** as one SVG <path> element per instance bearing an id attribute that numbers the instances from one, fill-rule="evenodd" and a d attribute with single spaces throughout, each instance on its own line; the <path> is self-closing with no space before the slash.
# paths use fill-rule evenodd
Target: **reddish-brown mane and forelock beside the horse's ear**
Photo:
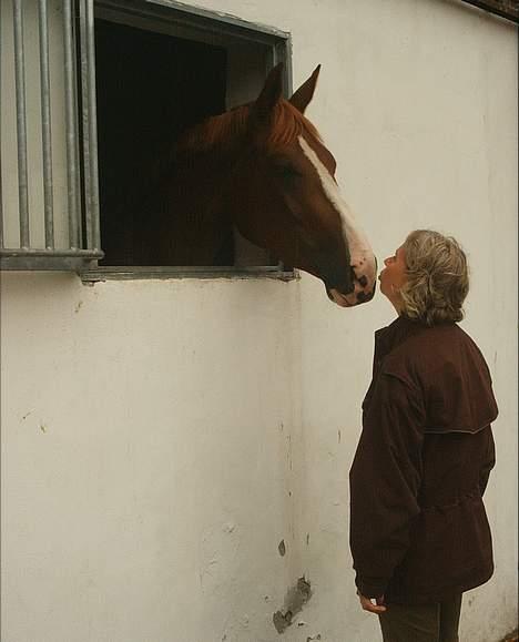
<path id="1" fill-rule="evenodd" d="M 196 154 L 232 149 L 242 140 L 248 125 L 251 105 L 245 104 L 212 116 L 190 130 L 179 141 L 177 153 Z M 288 101 L 281 100 L 273 111 L 272 126 L 265 137 L 266 145 L 286 145 L 303 133 L 320 140 L 315 126 Z"/>

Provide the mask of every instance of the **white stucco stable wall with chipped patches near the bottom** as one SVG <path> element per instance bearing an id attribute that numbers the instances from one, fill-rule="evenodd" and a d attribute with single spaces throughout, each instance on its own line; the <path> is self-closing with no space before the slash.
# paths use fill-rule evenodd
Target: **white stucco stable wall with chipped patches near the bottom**
<path id="1" fill-rule="evenodd" d="M 380 259 L 419 226 L 469 254 L 464 327 L 500 416 L 496 574 L 461 640 L 497 642 L 517 619 L 517 30 L 441 0 L 199 3 L 289 31 L 295 86 L 323 64 L 308 115 Z M 378 640 L 347 475 L 387 302 L 339 309 L 306 275 L 1 287 L 2 642 Z"/>

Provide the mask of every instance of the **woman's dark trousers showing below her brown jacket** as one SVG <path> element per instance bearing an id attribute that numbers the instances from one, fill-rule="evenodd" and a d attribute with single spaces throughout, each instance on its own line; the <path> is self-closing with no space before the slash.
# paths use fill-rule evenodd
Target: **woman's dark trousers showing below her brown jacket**
<path id="1" fill-rule="evenodd" d="M 434 604 L 387 604 L 378 618 L 384 642 L 459 642 L 461 595 Z"/>

